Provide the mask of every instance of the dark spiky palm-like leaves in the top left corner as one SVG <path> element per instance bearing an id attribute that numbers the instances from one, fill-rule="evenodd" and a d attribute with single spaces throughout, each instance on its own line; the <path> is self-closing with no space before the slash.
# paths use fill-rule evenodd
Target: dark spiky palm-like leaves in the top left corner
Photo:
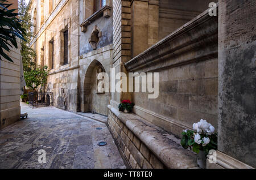
<path id="1" fill-rule="evenodd" d="M 2 60 L 3 57 L 13 62 L 3 50 L 10 52 L 10 48 L 13 46 L 18 48 L 16 37 L 25 40 L 23 35 L 26 35 L 26 29 L 16 18 L 19 14 L 14 12 L 15 9 L 8 10 L 11 5 L 6 0 L 0 0 L 0 59 Z"/>

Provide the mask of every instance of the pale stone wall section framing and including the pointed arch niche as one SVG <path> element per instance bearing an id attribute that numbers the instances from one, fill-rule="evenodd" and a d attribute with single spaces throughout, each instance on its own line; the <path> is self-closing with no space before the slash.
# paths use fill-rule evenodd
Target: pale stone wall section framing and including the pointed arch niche
<path id="1" fill-rule="evenodd" d="M 78 89 L 81 112 L 90 111 L 108 115 L 107 105 L 110 103 L 111 99 L 110 90 L 104 94 L 96 93 L 96 68 L 102 66 L 110 80 L 112 58 L 112 45 L 104 46 L 103 48 L 80 55 Z"/>

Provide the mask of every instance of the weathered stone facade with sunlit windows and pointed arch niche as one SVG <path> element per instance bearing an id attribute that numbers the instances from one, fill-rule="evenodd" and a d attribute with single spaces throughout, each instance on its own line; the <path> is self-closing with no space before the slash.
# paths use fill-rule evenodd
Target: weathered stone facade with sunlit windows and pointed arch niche
<path id="1" fill-rule="evenodd" d="M 110 95 L 94 92 L 96 74 L 92 74 L 96 66 L 102 66 L 104 71 L 110 72 L 112 14 L 107 9 L 108 14 L 105 10 L 92 10 L 90 14 L 85 15 L 85 6 L 88 6 L 88 3 L 90 1 L 31 1 L 30 11 L 32 16 L 36 17 L 35 27 L 32 29 L 35 37 L 31 40 L 31 46 L 36 49 L 36 62 L 39 65 L 47 65 L 50 69 L 46 89 L 52 92 L 53 106 L 71 112 L 90 111 L 107 115 L 106 106 L 109 104 Z M 50 5 L 54 8 L 51 9 Z M 106 1 L 105 6 L 110 7 L 111 1 Z M 84 22 L 95 15 L 97 17 L 93 19 L 93 23 L 85 28 Z M 63 61 L 65 31 L 68 31 L 67 64 Z M 95 32 L 99 37 L 93 48 L 92 38 Z M 51 49 L 50 42 L 53 42 L 54 49 Z"/>

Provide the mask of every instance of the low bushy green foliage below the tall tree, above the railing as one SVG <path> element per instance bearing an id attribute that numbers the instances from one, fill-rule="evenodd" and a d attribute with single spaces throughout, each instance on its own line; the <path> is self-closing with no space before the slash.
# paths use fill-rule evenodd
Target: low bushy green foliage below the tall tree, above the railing
<path id="1" fill-rule="evenodd" d="M 24 78 L 26 80 L 27 87 L 30 87 L 32 89 L 37 88 L 41 84 L 46 84 L 47 82 L 47 66 L 43 67 L 36 67 L 34 70 L 24 72 Z M 35 84 L 35 87 L 32 86 L 32 84 Z"/>

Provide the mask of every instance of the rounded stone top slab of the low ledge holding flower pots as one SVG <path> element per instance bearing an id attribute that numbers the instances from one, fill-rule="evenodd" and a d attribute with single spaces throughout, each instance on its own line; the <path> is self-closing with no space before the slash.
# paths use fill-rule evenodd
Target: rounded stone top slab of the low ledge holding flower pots
<path id="1" fill-rule="evenodd" d="M 122 113 L 108 105 L 110 111 L 131 131 L 167 168 L 196 168 L 196 155 L 183 149 L 180 139 L 147 122 L 134 113 Z"/>

